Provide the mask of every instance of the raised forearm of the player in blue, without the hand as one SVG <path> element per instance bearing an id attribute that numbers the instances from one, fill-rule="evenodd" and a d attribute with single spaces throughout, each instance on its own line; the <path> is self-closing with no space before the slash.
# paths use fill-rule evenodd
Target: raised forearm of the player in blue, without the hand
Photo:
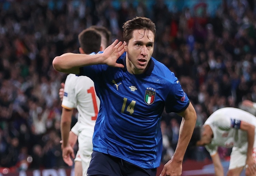
<path id="1" fill-rule="evenodd" d="M 87 55 L 65 53 L 53 60 L 53 67 L 63 73 L 79 74 L 79 68 L 88 65 L 100 64 L 104 61 L 102 54 Z"/>

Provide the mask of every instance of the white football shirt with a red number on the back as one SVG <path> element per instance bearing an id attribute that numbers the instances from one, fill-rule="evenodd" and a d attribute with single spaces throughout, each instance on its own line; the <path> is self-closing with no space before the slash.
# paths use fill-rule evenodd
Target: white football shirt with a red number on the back
<path id="1" fill-rule="evenodd" d="M 69 74 L 65 81 L 62 107 L 76 108 L 79 112 L 78 131 L 94 130 L 100 100 L 95 93 L 94 82 L 86 76 Z M 88 135 L 91 133 L 88 133 Z"/>

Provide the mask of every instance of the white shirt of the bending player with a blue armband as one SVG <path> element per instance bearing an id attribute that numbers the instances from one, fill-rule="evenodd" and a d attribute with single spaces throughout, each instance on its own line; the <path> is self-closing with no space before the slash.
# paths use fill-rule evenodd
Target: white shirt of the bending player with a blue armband
<path id="1" fill-rule="evenodd" d="M 206 145 L 210 155 L 217 152 L 218 146 L 238 148 L 247 143 L 247 133 L 240 129 L 241 121 L 256 126 L 256 117 L 237 108 L 222 108 L 215 111 L 205 121 L 213 131 L 212 142 Z"/>

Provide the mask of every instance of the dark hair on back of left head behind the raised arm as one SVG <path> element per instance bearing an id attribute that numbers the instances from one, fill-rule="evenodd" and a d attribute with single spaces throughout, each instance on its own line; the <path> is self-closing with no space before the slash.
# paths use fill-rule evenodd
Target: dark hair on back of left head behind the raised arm
<path id="1" fill-rule="evenodd" d="M 100 51 L 101 35 L 95 29 L 85 29 L 78 35 L 80 47 L 86 54 Z"/>

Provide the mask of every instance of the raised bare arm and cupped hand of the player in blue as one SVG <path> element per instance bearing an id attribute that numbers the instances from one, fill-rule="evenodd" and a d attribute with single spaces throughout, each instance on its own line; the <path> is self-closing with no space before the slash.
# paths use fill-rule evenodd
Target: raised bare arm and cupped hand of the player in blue
<path id="1" fill-rule="evenodd" d="M 124 53 L 124 45 L 122 42 L 118 43 L 115 40 L 112 45 L 105 49 L 101 54 L 87 55 L 87 54 L 75 54 L 65 53 L 57 56 L 53 60 L 53 67 L 57 71 L 63 73 L 72 73 L 78 75 L 80 67 L 107 64 L 113 67 L 121 67 L 124 65 L 116 63 L 116 60 Z"/>

